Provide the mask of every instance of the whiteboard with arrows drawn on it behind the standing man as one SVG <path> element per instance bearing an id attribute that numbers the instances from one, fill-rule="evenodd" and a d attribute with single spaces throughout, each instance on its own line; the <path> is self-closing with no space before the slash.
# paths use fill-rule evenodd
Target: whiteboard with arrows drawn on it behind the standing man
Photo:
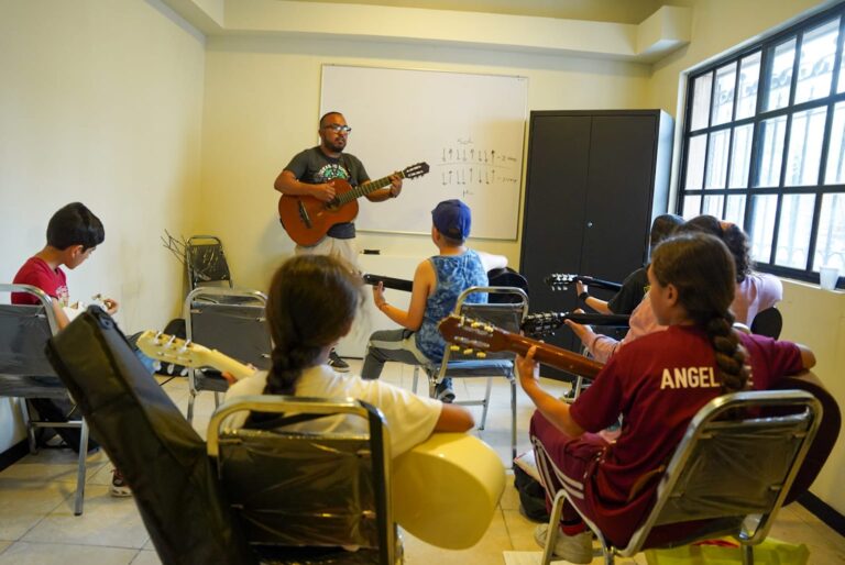
<path id="1" fill-rule="evenodd" d="M 358 229 L 428 234 L 435 206 L 459 198 L 472 237 L 516 240 L 527 96 L 526 77 L 323 65 L 320 115 L 344 115 L 371 179 L 430 167 L 396 200 L 361 202 Z"/>

